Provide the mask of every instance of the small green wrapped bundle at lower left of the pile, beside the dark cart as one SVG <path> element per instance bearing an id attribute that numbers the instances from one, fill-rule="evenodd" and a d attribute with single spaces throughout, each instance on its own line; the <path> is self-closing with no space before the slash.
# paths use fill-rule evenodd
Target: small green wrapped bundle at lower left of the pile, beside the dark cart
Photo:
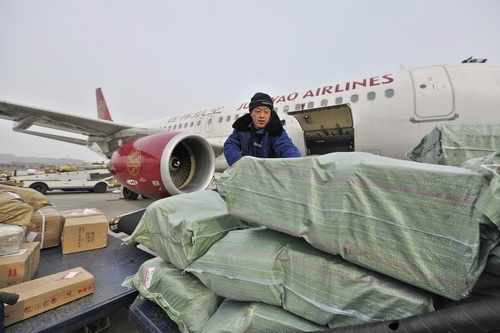
<path id="1" fill-rule="evenodd" d="M 183 333 L 200 332 L 222 302 L 194 276 L 183 274 L 160 257 L 144 262 L 122 286 L 135 287 L 158 304 Z"/>

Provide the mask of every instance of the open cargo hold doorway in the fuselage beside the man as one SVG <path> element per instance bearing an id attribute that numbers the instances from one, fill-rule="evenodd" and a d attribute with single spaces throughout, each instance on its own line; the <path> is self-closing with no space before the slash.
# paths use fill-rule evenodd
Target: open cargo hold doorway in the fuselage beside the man
<path id="1" fill-rule="evenodd" d="M 354 151 L 354 125 L 349 104 L 290 111 L 304 131 L 307 155 Z"/>

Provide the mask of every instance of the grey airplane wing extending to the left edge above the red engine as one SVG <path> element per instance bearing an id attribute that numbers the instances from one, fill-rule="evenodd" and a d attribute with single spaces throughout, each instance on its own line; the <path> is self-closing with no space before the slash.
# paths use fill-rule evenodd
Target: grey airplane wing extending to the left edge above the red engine
<path id="1" fill-rule="evenodd" d="M 14 131 L 28 134 L 36 133 L 26 131 L 33 125 L 93 137 L 107 137 L 121 130 L 133 128 L 107 120 L 80 117 L 6 101 L 0 101 L 0 118 L 12 120 Z"/>

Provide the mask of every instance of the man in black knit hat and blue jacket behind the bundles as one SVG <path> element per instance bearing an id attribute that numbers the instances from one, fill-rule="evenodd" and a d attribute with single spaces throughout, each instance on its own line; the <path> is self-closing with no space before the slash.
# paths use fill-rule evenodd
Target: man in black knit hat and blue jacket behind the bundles
<path id="1" fill-rule="evenodd" d="M 269 95 L 256 93 L 250 100 L 249 110 L 250 113 L 236 119 L 233 133 L 224 143 L 224 156 L 229 165 L 247 155 L 263 158 L 301 156 L 273 110 Z"/>

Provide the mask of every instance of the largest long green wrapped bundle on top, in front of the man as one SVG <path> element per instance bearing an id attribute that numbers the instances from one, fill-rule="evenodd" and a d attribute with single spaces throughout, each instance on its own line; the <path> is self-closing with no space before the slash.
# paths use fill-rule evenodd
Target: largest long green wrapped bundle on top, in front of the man
<path id="1" fill-rule="evenodd" d="M 217 180 L 229 213 L 306 239 L 453 300 L 469 295 L 495 240 L 475 208 L 482 175 L 368 153 L 244 157 Z"/>

